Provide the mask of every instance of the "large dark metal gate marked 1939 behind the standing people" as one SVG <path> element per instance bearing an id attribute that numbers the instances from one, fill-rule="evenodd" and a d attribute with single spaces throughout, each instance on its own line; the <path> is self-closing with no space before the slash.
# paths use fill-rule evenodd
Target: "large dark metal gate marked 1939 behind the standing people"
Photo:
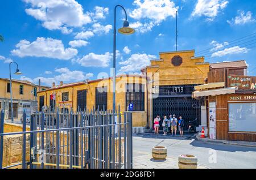
<path id="1" fill-rule="evenodd" d="M 198 84 L 160 86 L 159 97 L 153 100 L 154 118 L 160 115 L 163 122 L 164 115 L 167 118 L 170 114 L 175 114 L 176 118 L 181 115 L 185 121 L 184 130 L 188 130 L 188 122 L 196 118 L 199 125 L 201 102 L 191 97 L 195 85 Z"/>

